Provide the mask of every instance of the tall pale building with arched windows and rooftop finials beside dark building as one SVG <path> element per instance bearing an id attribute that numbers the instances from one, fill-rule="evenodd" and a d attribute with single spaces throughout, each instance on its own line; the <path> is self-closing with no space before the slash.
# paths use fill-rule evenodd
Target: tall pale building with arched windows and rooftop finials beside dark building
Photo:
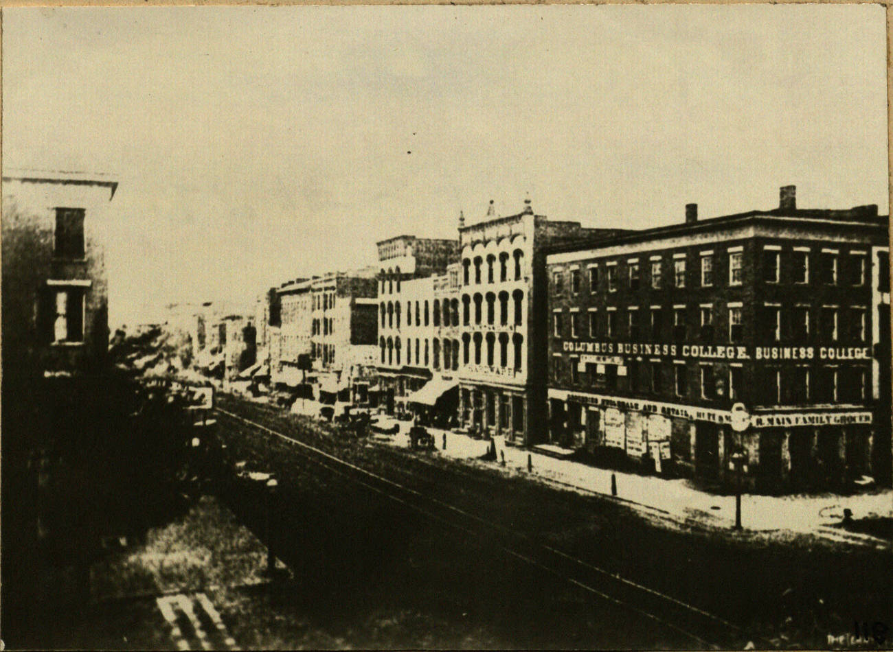
<path id="1" fill-rule="evenodd" d="M 544 434 L 546 259 L 549 244 L 611 235 L 579 222 L 522 212 L 497 217 L 490 202 L 483 221 L 460 218 L 461 354 L 459 418 L 465 427 L 504 435 L 507 442 L 537 443 Z M 461 318 L 460 313 L 461 312 Z"/>

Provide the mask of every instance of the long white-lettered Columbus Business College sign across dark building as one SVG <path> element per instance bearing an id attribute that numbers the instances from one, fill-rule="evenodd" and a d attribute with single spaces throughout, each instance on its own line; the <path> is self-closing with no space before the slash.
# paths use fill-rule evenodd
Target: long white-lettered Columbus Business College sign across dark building
<path id="1" fill-rule="evenodd" d="M 638 342 L 563 342 L 568 353 L 598 356 L 641 355 L 666 358 L 716 360 L 870 360 L 864 346 L 738 346 L 715 344 L 669 344 Z M 582 362 L 582 360 L 581 360 Z M 608 364 L 616 364 L 610 362 Z"/>

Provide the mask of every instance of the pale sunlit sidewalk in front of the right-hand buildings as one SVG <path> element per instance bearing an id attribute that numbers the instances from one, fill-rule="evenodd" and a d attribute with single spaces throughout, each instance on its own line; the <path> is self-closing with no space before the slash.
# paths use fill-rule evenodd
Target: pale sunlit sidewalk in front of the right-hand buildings
<path id="1" fill-rule="evenodd" d="M 408 445 L 406 433 L 411 422 L 400 421 L 400 433 L 390 438 L 397 446 Z M 438 454 L 449 458 L 476 460 L 482 466 L 502 468 L 499 461 L 483 462 L 479 458 L 487 452 L 490 442 L 449 431 L 429 428 L 435 435 Z M 447 436 L 444 450 L 443 437 Z M 587 493 L 611 495 L 611 476 L 617 481 L 617 498 L 634 503 L 633 507 L 682 522 L 697 522 L 711 527 L 731 528 L 735 524 L 735 497 L 720 496 L 700 491 L 684 479 L 667 479 L 655 475 L 636 475 L 597 468 L 557 459 L 540 453 L 506 446 L 504 438 L 495 437 L 497 460 L 505 454 L 505 468 L 510 473 L 527 473 L 527 461 L 533 466 L 533 475 Z M 866 516 L 893 516 L 893 491 L 877 490 L 853 496 L 835 494 L 760 496 L 744 494 L 741 497 L 742 526 L 753 532 L 789 531 L 809 533 L 836 541 L 881 540 L 863 538 L 844 530 L 830 528 L 843 519 L 843 510 L 850 509 L 853 518 Z M 887 543 L 889 547 L 889 542 Z"/>

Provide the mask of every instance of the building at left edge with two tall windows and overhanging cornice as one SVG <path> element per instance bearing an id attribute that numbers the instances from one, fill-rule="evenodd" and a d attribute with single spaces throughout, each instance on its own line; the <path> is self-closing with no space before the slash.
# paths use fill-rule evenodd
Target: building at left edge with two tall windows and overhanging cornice
<path id="1" fill-rule="evenodd" d="M 101 370 L 108 350 L 104 249 L 117 181 L 102 175 L 3 177 L 3 376 Z"/>

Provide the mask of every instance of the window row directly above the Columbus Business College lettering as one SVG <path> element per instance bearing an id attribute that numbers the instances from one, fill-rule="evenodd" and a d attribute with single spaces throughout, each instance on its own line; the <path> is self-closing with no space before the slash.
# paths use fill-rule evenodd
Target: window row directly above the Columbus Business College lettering
<path id="1" fill-rule="evenodd" d="M 716 327 L 717 314 L 725 311 L 725 325 Z M 697 318 L 693 317 L 697 315 Z M 744 312 L 740 304 L 726 307 L 706 304 L 664 308 L 651 306 L 638 309 L 599 310 L 586 312 L 572 309 L 567 313 L 555 309 L 552 313 L 552 334 L 562 338 L 627 338 L 630 341 L 652 339 L 657 342 L 672 337 L 684 341 L 697 336 L 703 343 L 740 343 L 744 339 Z M 792 341 L 804 343 L 813 337 L 824 342 L 865 343 L 867 341 L 867 310 L 864 306 L 793 306 L 766 304 L 756 310 L 756 336 L 764 342 Z M 565 326 L 567 325 L 567 326 Z M 569 331 L 565 328 L 569 326 Z M 669 336 L 669 337 L 668 337 Z"/>

